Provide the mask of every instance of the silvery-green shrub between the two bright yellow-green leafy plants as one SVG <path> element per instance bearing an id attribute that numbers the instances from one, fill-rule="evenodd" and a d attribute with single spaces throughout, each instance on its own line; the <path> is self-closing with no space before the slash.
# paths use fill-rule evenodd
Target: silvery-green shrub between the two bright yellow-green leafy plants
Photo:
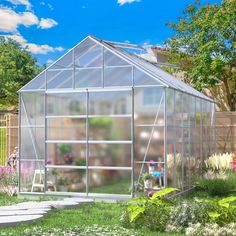
<path id="1" fill-rule="evenodd" d="M 188 227 L 189 224 L 207 223 L 210 221 L 208 204 L 195 201 L 182 201 L 173 208 L 170 214 L 170 225 Z"/>

